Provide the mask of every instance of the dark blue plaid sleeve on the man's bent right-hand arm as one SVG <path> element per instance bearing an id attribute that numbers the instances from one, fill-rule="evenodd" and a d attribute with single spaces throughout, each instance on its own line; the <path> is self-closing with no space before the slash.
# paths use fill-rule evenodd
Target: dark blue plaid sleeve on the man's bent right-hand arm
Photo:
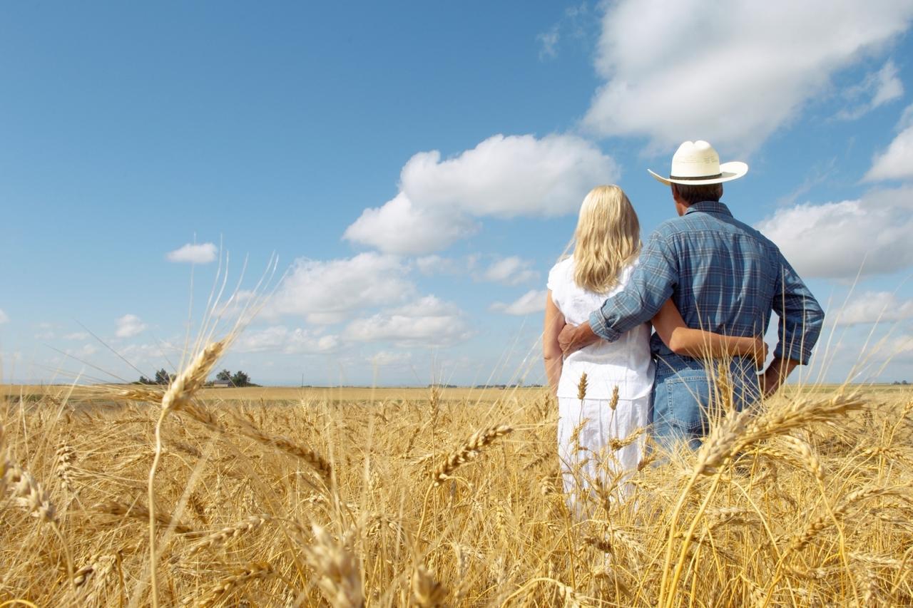
<path id="1" fill-rule="evenodd" d="M 808 365 L 824 325 L 824 310 L 786 258 L 779 252 L 778 256 L 780 277 L 771 308 L 780 317 L 780 327 L 773 356 Z"/>

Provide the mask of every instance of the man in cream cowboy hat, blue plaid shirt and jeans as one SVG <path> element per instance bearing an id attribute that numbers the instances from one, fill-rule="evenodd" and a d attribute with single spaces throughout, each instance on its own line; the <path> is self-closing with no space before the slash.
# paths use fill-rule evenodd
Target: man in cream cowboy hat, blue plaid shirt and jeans
<path id="1" fill-rule="evenodd" d="M 760 232 L 736 220 L 719 202 L 722 183 L 748 173 L 744 162 L 719 163 L 708 142 L 684 142 L 672 158 L 669 185 L 678 217 L 649 236 L 640 262 L 624 290 L 595 310 L 589 323 L 565 326 L 559 342 L 565 354 L 600 338 L 617 340 L 651 320 L 670 297 L 688 327 L 734 336 L 764 333 L 771 311 L 780 317 L 773 361 L 760 377 L 750 358 L 729 364 L 734 402 L 740 408 L 774 393 L 796 365 L 807 364 L 821 333 L 824 311 L 780 250 Z M 656 334 L 653 433 L 661 445 L 679 439 L 697 447 L 708 431 L 715 399 L 716 369 L 677 355 Z"/>

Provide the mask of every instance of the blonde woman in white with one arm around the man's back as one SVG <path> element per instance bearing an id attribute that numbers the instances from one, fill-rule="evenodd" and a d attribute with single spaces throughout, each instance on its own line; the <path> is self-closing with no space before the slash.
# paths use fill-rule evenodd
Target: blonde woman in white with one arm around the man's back
<path id="1" fill-rule="evenodd" d="M 558 334 L 565 323 L 589 320 L 605 299 L 624 288 L 640 253 L 640 225 L 621 188 L 601 185 L 581 205 L 576 246 L 549 273 L 542 351 L 551 390 L 558 396 L 558 446 L 564 490 L 574 501 L 594 480 L 635 470 L 649 424 L 654 364 L 650 325 L 614 342 L 599 341 L 562 360 Z M 666 345 L 693 357 L 766 354 L 761 338 L 733 338 L 687 328 L 670 299 L 652 320 Z M 585 386 L 581 378 L 586 374 Z M 623 445 L 626 437 L 639 433 Z M 615 445 L 612 446 L 613 440 Z M 617 449 L 612 449 L 615 447 Z M 618 487 L 624 487 L 619 483 Z"/>

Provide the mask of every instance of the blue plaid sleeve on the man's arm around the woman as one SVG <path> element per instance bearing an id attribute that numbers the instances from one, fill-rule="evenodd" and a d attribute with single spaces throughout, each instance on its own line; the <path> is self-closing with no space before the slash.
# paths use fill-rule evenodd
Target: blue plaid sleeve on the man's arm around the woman
<path id="1" fill-rule="evenodd" d="M 657 230 L 647 240 L 628 284 L 590 315 L 590 327 L 606 341 L 651 320 L 678 283 L 678 264 L 666 238 Z"/>

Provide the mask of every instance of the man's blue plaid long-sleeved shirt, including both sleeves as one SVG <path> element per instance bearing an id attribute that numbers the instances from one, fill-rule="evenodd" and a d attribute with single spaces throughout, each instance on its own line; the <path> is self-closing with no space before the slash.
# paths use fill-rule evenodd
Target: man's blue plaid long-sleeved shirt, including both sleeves
<path id="1" fill-rule="evenodd" d="M 774 356 L 803 364 L 824 322 L 824 310 L 780 249 L 714 201 L 692 204 L 656 228 L 630 282 L 593 312 L 590 326 L 615 341 L 653 319 L 669 297 L 688 327 L 729 336 L 763 334 L 772 310 L 780 317 Z M 650 347 L 673 372 L 700 363 L 673 353 L 656 334 Z"/>

